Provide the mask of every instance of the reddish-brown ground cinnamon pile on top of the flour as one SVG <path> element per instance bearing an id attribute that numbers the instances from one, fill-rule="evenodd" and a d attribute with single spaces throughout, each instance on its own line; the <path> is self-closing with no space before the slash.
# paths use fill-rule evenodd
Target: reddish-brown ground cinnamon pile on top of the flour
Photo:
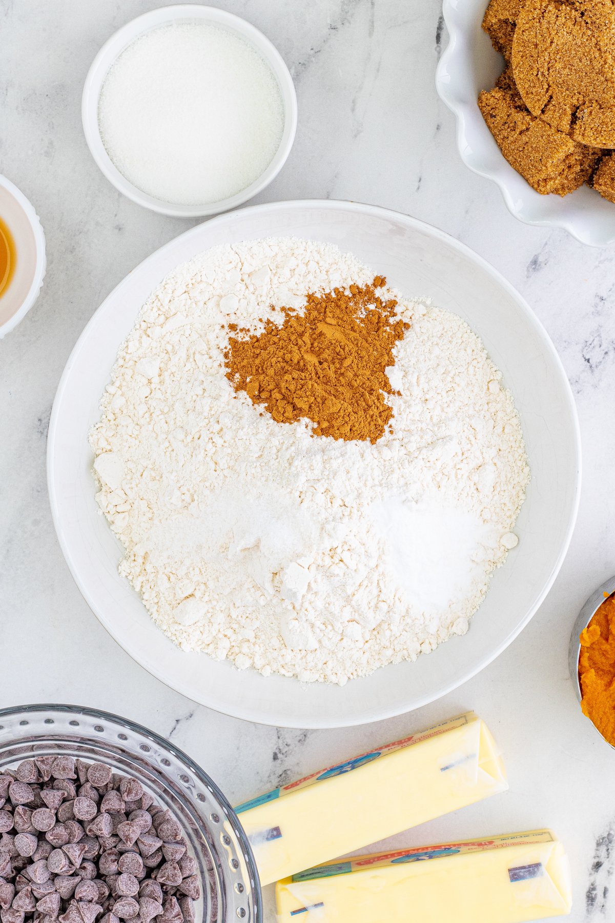
<path id="1" fill-rule="evenodd" d="M 234 389 L 278 423 L 307 418 L 313 436 L 376 442 L 393 415 L 385 369 L 409 327 L 396 300 L 378 294 L 385 282 L 308 294 L 304 309 L 279 308 L 281 324 L 266 320 L 262 333 L 230 324 L 225 365 Z"/>

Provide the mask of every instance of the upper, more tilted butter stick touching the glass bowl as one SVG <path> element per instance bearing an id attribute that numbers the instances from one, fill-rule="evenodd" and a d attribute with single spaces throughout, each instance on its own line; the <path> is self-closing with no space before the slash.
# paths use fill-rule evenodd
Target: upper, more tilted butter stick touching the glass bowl
<path id="1" fill-rule="evenodd" d="M 468 713 L 276 788 L 235 811 L 265 885 L 506 788 L 491 734 Z"/>

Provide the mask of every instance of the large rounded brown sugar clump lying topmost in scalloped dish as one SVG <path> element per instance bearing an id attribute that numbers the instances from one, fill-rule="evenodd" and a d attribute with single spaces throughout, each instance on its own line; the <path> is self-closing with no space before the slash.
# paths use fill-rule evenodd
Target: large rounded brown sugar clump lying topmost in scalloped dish
<path id="1" fill-rule="evenodd" d="M 512 64 L 533 115 L 582 144 L 615 148 L 611 0 L 525 0 Z"/>

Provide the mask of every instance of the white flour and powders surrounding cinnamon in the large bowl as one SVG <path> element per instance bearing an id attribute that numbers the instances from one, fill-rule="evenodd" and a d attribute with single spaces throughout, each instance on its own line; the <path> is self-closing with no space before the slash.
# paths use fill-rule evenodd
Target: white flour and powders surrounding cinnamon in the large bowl
<path id="1" fill-rule="evenodd" d="M 174 270 L 118 355 L 90 443 L 120 572 L 187 651 L 344 683 L 468 619 L 514 544 L 529 479 L 512 396 L 455 314 L 398 293 L 393 432 L 279 424 L 225 377 L 229 322 L 373 280 L 336 246 L 219 246 Z M 261 318 L 259 320 L 259 318 Z"/>

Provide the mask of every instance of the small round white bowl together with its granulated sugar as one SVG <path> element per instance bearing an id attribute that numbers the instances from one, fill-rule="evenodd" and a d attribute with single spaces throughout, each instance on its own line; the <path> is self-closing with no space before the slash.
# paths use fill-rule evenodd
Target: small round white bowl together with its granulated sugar
<path id="1" fill-rule="evenodd" d="M 262 32 L 215 6 L 180 4 L 105 42 L 81 114 L 92 157 L 124 196 L 197 218 L 242 205 L 278 174 L 297 98 Z"/>

